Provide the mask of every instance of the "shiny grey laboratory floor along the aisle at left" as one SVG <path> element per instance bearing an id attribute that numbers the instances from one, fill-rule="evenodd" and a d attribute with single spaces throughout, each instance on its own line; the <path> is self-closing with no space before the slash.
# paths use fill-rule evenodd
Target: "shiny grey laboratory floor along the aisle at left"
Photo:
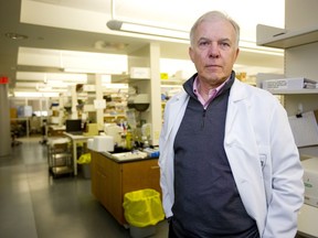
<path id="1" fill-rule="evenodd" d="M 10 156 L 0 158 L 0 237 L 126 238 L 120 226 L 91 193 L 91 180 L 53 178 L 41 138 L 19 139 Z M 168 237 L 167 223 L 153 238 Z"/>

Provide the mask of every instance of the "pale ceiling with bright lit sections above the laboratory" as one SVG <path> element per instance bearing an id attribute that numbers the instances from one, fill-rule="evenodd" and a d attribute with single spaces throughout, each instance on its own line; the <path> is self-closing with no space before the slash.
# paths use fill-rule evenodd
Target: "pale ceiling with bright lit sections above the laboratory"
<path id="1" fill-rule="evenodd" d="M 61 76 L 65 74 L 62 69 L 68 66 L 94 69 L 100 66 L 113 74 L 127 73 L 126 55 L 151 41 L 159 42 L 161 58 L 179 60 L 189 69 L 188 41 L 112 31 L 106 22 L 118 19 L 188 31 L 200 14 L 212 9 L 225 11 L 241 25 L 241 42 L 244 45 L 236 71 L 247 75 L 282 73 L 282 52 L 276 54 L 275 50 L 271 50 L 273 52 L 264 54 L 264 48 L 255 45 L 255 32 L 257 23 L 284 28 L 284 0 L 267 0 L 264 3 L 254 0 L 1 1 L 0 76 L 9 77 L 9 88 L 13 91 L 36 90 L 35 83 L 53 77 L 52 73 Z M 12 40 L 6 36 L 7 33 L 22 34 L 28 39 Z M 86 54 L 78 56 L 78 52 Z M 121 67 L 114 71 L 112 63 Z M 179 64 L 174 71 L 170 62 L 165 64 L 162 60 L 160 71 L 170 74 L 169 71 L 183 69 L 181 67 Z"/>

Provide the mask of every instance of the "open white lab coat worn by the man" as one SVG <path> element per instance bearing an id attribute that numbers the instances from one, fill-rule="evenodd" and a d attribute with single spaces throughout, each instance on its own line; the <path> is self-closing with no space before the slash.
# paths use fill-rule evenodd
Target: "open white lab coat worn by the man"
<path id="1" fill-rule="evenodd" d="M 182 91 L 165 109 L 159 166 L 167 217 L 172 216 L 174 201 L 173 141 L 188 100 Z M 294 238 L 304 202 L 304 171 L 280 102 L 268 91 L 235 79 L 229 98 L 224 149 L 242 202 L 256 220 L 261 237 Z"/>

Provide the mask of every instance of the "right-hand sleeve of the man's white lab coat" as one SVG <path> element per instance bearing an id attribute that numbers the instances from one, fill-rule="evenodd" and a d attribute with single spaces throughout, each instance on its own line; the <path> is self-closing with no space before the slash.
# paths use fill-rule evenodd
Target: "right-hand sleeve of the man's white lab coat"
<path id="1" fill-rule="evenodd" d="M 303 167 L 285 109 L 274 107 L 271 121 L 272 166 L 263 167 L 267 216 L 263 238 L 292 238 L 304 203 Z M 271 192 L 268 192 L 271 191 Z"/>

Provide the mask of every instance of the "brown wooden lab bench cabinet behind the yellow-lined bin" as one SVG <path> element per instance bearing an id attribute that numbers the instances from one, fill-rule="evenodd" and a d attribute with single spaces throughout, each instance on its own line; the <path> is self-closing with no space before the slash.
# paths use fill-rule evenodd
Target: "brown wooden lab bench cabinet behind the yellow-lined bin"
<path id="1" fill-rule="evenodd" d="M 92 193 L 103 206 L 124 225 L 124 195 L 128 192 L 153 188 L 161 193 L 158 159 L 118 163 L 92 151 Z"/>

